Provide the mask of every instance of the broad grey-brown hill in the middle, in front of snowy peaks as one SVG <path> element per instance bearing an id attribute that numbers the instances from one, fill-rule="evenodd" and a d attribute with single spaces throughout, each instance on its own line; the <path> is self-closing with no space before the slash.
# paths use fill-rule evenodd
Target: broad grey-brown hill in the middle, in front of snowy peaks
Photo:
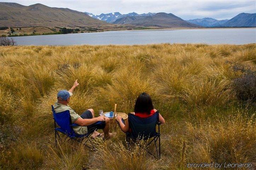
<path id="1" fill-rule="evenodd" d="M 135 16 L 117 19 L 114 24 L 131 24 L 145 27 L 200 27 L 189 23 L 172 13 L 160 12 L 153 16 Z"/>

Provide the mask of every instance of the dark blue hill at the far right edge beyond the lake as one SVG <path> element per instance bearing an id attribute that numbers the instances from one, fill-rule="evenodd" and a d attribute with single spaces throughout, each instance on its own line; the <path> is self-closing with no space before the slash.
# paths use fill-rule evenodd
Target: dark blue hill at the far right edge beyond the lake
<path id="1" fill-rule="evenodd" d="M 218 27 L 256 27 L 256 13 L 239 13 Z"/>

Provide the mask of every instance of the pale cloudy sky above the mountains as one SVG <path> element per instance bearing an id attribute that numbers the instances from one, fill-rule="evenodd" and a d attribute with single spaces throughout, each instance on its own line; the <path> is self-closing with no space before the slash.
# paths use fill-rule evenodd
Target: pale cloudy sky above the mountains
<path id="1" fill-rule="evenodd" d="M 173 13 L 182 19 L 231 19 L 241 12 L 256 13 L 256 0 L 0 0 L 22 5 L 36 3 L 50 7 L 70 8 L 93 14 L 120 12 Z"/>

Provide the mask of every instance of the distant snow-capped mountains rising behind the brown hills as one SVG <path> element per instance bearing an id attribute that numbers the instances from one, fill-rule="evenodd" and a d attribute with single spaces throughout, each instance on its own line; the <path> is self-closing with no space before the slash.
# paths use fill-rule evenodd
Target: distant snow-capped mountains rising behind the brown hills
<path id="1" fill-rule="evenodd" d="M 127 14 L 121 14 L 119 12 L 113 12 L 113 13 L 102 13 L 100 15 L 94 15 L 92 13 L 88 13 L 88 12 L 85 12 L 87 15 L 89 15 L 90 17 L 93 17 L 93 18 L 96 18 L 96 19 L 99 19 L 99 20 L 104 20 L 106 22 L 109 22 L 109 23 L 114 23 L 116 19 L 119 19 L 119 18 L 123 18 L 123 17 L 132 17 L 132 16 L 153 16 L 155 13 L 142 13 L 142 14 L 137 14 L 136 12 L 131 12 L 131 13 L 127 13 Z"/>

